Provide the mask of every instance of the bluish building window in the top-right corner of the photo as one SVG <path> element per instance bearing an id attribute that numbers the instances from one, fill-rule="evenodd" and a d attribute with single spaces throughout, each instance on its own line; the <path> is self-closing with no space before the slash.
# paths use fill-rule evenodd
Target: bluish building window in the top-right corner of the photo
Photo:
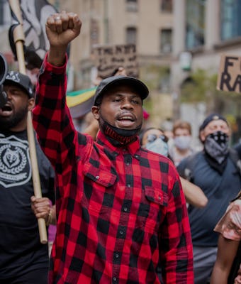
<path id="1" fill-rule="evenodd" d="M 241 35 L 241 1 L 222 0 L 220 7 L 220 37 L 228 40 Z"/>

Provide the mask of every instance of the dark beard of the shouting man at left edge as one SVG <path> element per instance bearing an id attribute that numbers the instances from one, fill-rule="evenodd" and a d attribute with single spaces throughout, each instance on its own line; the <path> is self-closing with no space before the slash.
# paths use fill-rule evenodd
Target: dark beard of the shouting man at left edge
<path id="1" fill-rule="evenodd" d="M 18 112 L 14 112 L 11 116 L 0 116 L 0 131 L 7 131 L 17 126 L 28 114 L 28 106 L 22 107 Z"/>

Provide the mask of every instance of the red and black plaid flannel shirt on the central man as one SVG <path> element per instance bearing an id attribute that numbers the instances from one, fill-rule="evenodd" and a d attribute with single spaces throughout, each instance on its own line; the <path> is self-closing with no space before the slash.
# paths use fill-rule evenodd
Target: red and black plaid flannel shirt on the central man
<path id="1" fill-rule="evenodd" d="M 194 283 L 186 202 L 167 158 L 78 133 L 65 67 L 44 61 L 33 124 L 57 175 L 50 283 Z"/>

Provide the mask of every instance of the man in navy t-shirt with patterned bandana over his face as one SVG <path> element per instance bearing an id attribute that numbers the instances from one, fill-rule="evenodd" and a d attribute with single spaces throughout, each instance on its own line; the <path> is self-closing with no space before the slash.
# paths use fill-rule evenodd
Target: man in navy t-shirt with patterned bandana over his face
<path id="1" fill-rule="evenodd" d="M 199 138 L 203 150 L 182 160 L 177 170 L 208 197 L 203 209 L 191 205 L 188 208 L 194 245 L 194 283 L 204 284 L 210 278 L 218 248 L 218 233 L 213 228 L 240 191 L 241 176 L 233 158 L 237 153 L 229 148 L 230 127 L 224 116 L 207 116 L 200 126 Z"/>

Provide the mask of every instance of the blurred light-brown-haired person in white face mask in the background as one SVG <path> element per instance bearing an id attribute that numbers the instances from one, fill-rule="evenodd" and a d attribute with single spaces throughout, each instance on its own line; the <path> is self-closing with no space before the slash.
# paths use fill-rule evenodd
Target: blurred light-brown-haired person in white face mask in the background
<path id="1" fill-rule="evenodd" d="M 177 166 L 182 159 L 194 153 L 191 148 L 191 124 L 187 121 L 175 121 L 172 132 L 173 144 L 169 149 L 169 153 Z"/>

